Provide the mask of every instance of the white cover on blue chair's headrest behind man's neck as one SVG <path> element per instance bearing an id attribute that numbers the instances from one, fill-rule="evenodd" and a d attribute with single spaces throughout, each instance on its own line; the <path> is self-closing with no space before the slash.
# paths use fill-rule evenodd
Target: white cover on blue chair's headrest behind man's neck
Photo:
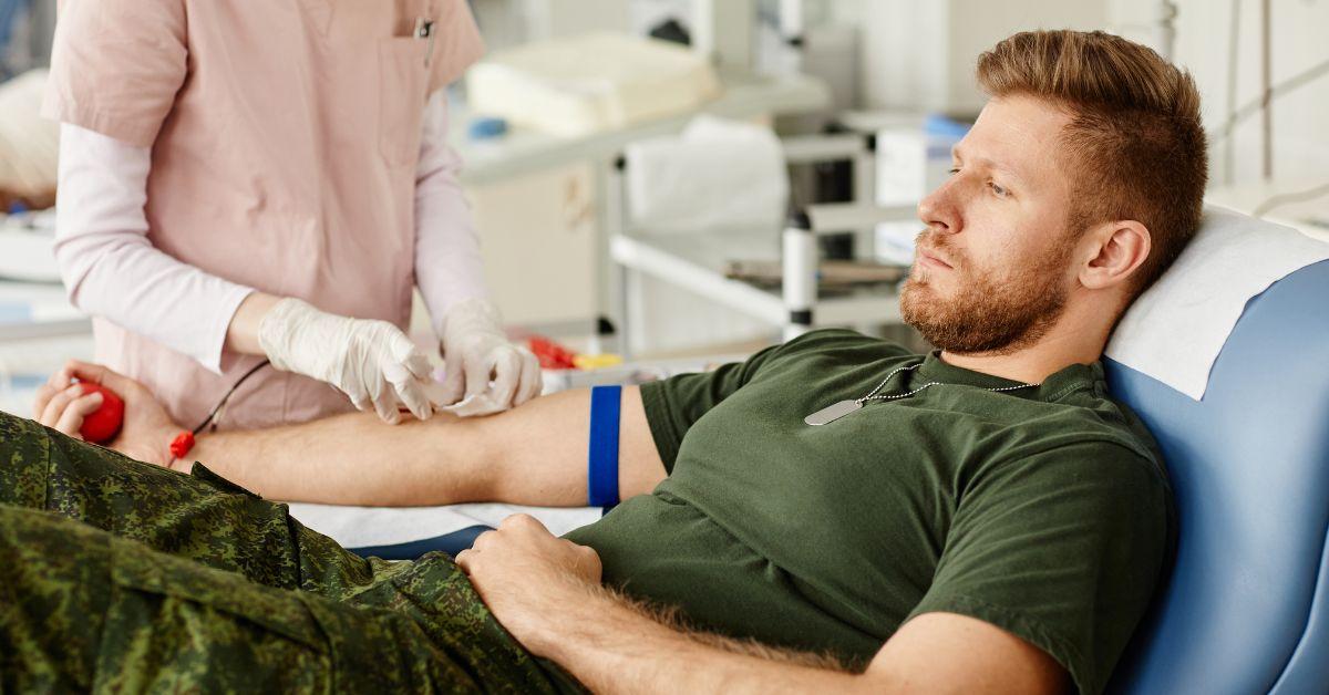
<path id="1" fill-rule="evenodd" d="M 1201 400 L 1209 369 L 1251 298 L 1312 263 L 1329 243 L 1207 206 L 1176 263 L 1122 318 L 1108 357 Z"/>

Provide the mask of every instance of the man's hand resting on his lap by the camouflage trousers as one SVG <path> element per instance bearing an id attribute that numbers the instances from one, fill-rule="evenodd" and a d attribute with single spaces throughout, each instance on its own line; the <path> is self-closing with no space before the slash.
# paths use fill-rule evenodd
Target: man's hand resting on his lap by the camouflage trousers
<path id="1" fill-rule="evenodd" d="M 554 615 L 570 602 L 586 602 L 599 587 L 594 550 L 554 537 L 534 517 L 513 514 L 457 554 L 498 622 L 533 654 L 545 656 L 557 639 Z"/>

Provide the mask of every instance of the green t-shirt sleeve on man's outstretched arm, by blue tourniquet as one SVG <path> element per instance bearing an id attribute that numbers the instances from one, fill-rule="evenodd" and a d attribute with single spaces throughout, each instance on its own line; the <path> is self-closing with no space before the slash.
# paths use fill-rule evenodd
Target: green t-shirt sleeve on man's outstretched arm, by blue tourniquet
<path id="1" fill-rule="evenodd" d="M 674 470 L 679 444 L 692 423 L 748 383 L 781 347 L 771 346 L 746 361 L 724 364 L 710 372 L 680 373 L 642 384 L 646 421 L 666 472 Z"/>

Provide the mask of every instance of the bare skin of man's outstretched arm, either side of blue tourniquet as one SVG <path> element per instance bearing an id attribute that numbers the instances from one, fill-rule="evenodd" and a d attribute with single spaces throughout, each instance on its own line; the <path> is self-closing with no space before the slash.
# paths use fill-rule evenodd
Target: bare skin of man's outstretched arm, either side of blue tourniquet
<path id="1" fill-rule="evenodd" d="M 641 391 L 623 389 L 619 496 L 664 478 Z M 271 500 L 365 506 L 586 500 L 590 391 L 542 396 L 488 417 L 436 415 L 387 425 L 350 413 L 300 425 L 201 436 L 175 468 L 201 461 Z"/>

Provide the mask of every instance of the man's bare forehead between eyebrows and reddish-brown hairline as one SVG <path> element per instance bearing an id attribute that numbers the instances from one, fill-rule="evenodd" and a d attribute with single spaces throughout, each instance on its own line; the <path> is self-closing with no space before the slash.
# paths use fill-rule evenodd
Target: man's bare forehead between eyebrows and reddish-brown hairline
<path id="1" fill-rule="evenodd" d="M 978 121 L 956 144 L 954 154 L 965 162 L 983 163 L 1030 183 L 1059 177 L 1057 148 L 1070 116 L 1046 101 L 1031 97 L 994 98 L 983 106 Z"/>

